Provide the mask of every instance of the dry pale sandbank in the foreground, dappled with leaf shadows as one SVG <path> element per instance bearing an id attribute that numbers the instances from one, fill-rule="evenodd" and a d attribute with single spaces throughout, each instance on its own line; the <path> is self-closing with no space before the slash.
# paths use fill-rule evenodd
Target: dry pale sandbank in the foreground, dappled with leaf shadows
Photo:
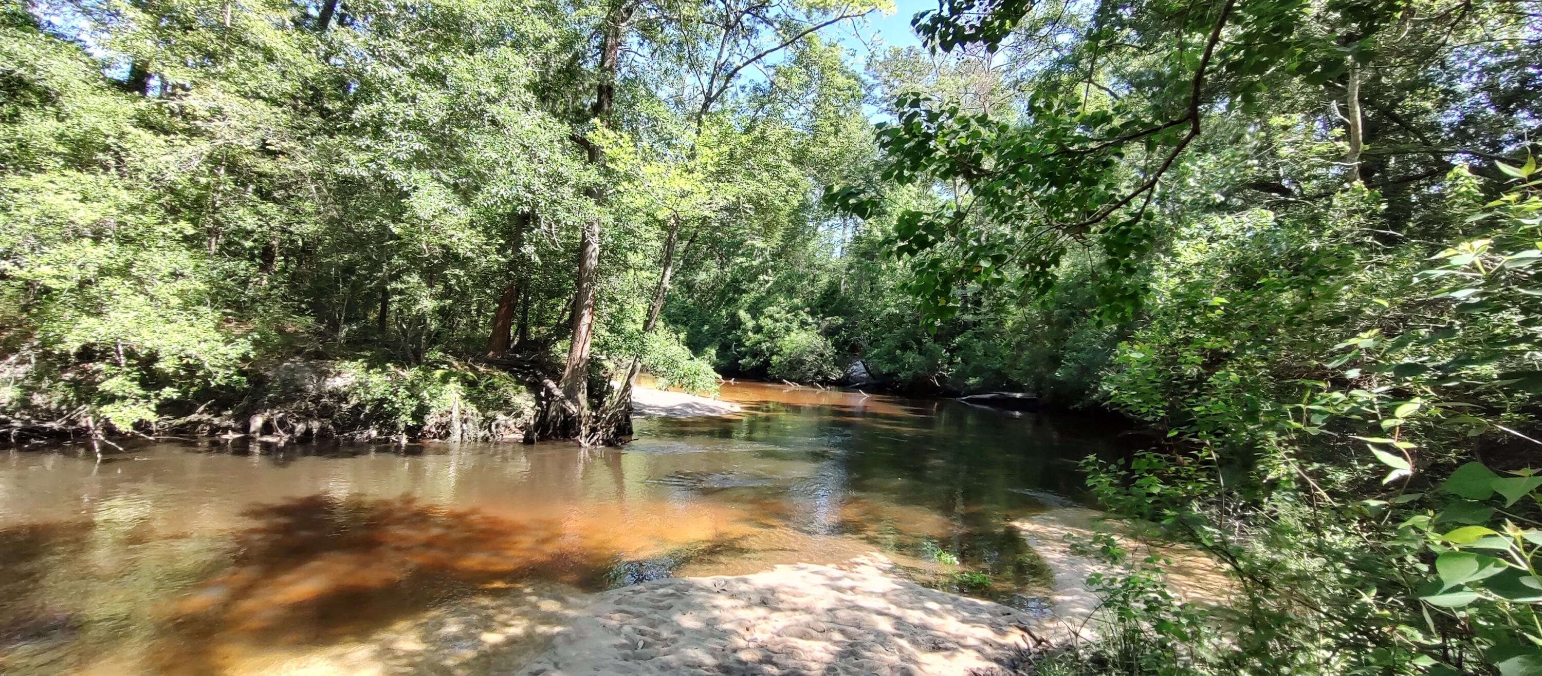
<path id="1" fill-rule="evenodd" d="M 928 590 L 871 554 L 598 594 L 523 673 L 1005 674 L 1045 619 Z"/>

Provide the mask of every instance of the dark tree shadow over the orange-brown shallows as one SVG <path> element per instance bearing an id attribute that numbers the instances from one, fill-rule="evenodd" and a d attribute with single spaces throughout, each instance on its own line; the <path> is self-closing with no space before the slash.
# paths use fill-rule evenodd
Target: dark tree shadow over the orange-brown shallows
<path id="1" fill-rule="evenodd" d="M 217 673 L 222 644 L 367 638 L 436 604 L 526 584 L 597 590 L 635 565 L 581 519 L 513 519 L 412 497 L 310 496 L 245 516 L 254 525 L 234 534 L 231 568 L 163 610 L 171 631 L 157 650 L 160 670 Z"/>

